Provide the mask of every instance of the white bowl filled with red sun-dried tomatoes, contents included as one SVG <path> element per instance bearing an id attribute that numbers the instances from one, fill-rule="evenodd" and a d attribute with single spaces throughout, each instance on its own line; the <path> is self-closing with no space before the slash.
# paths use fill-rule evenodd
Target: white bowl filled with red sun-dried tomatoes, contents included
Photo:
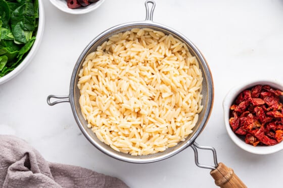
<path id="1" fill-rule="evenodd" d="M 283 149 L 283 84 L 253 81 L 233 87 L 223 100 L 224 122 L 232 141 L 255 154 Z"/>

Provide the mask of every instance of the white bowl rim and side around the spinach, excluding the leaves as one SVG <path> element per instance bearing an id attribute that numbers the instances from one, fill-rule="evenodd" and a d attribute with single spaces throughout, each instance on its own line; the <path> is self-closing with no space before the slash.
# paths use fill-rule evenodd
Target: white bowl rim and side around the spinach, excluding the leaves
<path id="1" fill-rule="evenodd" d="M 16 75 L 18 75 L 24 68 L 27 67 L 33 56 L 35 55 L 39 44 L 41 42 L 41 38 L 43 35 L 44 30 L 44 8 L 43 8 L 43 0 L 38 0 L 38 9 L 39 9 L 39 18 L 38 18 L 38 28 L 36 33 L 36 39 L 30 48 L 28 54 L 25 56 L 25 58 L 22 60 L 21 64 L 18 65 L 13 71 L 5 75 L 4 77 L 0 78 L 0 84 L 4 84 L 5 82 L 11 80 Z"/>

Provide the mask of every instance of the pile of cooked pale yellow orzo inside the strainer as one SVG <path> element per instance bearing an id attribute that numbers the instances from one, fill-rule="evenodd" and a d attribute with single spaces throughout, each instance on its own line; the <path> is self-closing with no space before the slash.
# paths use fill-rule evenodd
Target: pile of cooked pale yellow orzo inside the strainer
<path id="1" fill-rule="evenodd" d="M 203 108 L 196 57 L 160 31 L 111 36 L 86 56 L 79 77 L 87 127 L 114 150 L 131 155 L 162 152 L 184 141 Z"/>

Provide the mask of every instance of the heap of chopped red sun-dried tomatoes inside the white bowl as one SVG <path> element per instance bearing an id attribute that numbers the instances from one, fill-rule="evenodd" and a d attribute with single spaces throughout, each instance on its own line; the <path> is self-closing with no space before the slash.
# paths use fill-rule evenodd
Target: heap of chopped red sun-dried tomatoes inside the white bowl
<path id="1" fill-rule="evenodd" d="M 275 145 L 283 140 L 283 91 L 256 85 L 242 91 L 230 106 L 232 131 L 253 146 Z"/>

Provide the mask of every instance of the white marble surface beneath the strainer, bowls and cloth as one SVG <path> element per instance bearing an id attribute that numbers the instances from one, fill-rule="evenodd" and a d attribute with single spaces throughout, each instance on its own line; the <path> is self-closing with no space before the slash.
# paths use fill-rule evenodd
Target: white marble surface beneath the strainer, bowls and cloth
<path id="1" fill-rule="evenodd" d="M 45 31 L 29 66 L 0 86 L 0 134 L 27 140 L 46 160 L 79 165 L 116 176 L 130 187 L 216 187 L 208 169 L 195 165 L 191 148 L 155 163 L 130 164 L 106 156 L 82 136 L 69 103 L 49 106 L 50 94 L 67 95 L 74 64 L 91 39 L 121 23 L 145 19 L 144 0 L 108 0 L 95 12 L 69 15 L 43 2 Z M 190 38 L 205 55 L 214 78 L 211 117 L 197 138 L 213 146 L 218 161 L 248 187 L 278 187 L 283 152 L 243 151 L 224 128 L 222 100 L 239 82 L 283 81 L 283 1 L 156 0 L 153 19 Z M 211 153 L 200 161 L 212 164 Z"/>

